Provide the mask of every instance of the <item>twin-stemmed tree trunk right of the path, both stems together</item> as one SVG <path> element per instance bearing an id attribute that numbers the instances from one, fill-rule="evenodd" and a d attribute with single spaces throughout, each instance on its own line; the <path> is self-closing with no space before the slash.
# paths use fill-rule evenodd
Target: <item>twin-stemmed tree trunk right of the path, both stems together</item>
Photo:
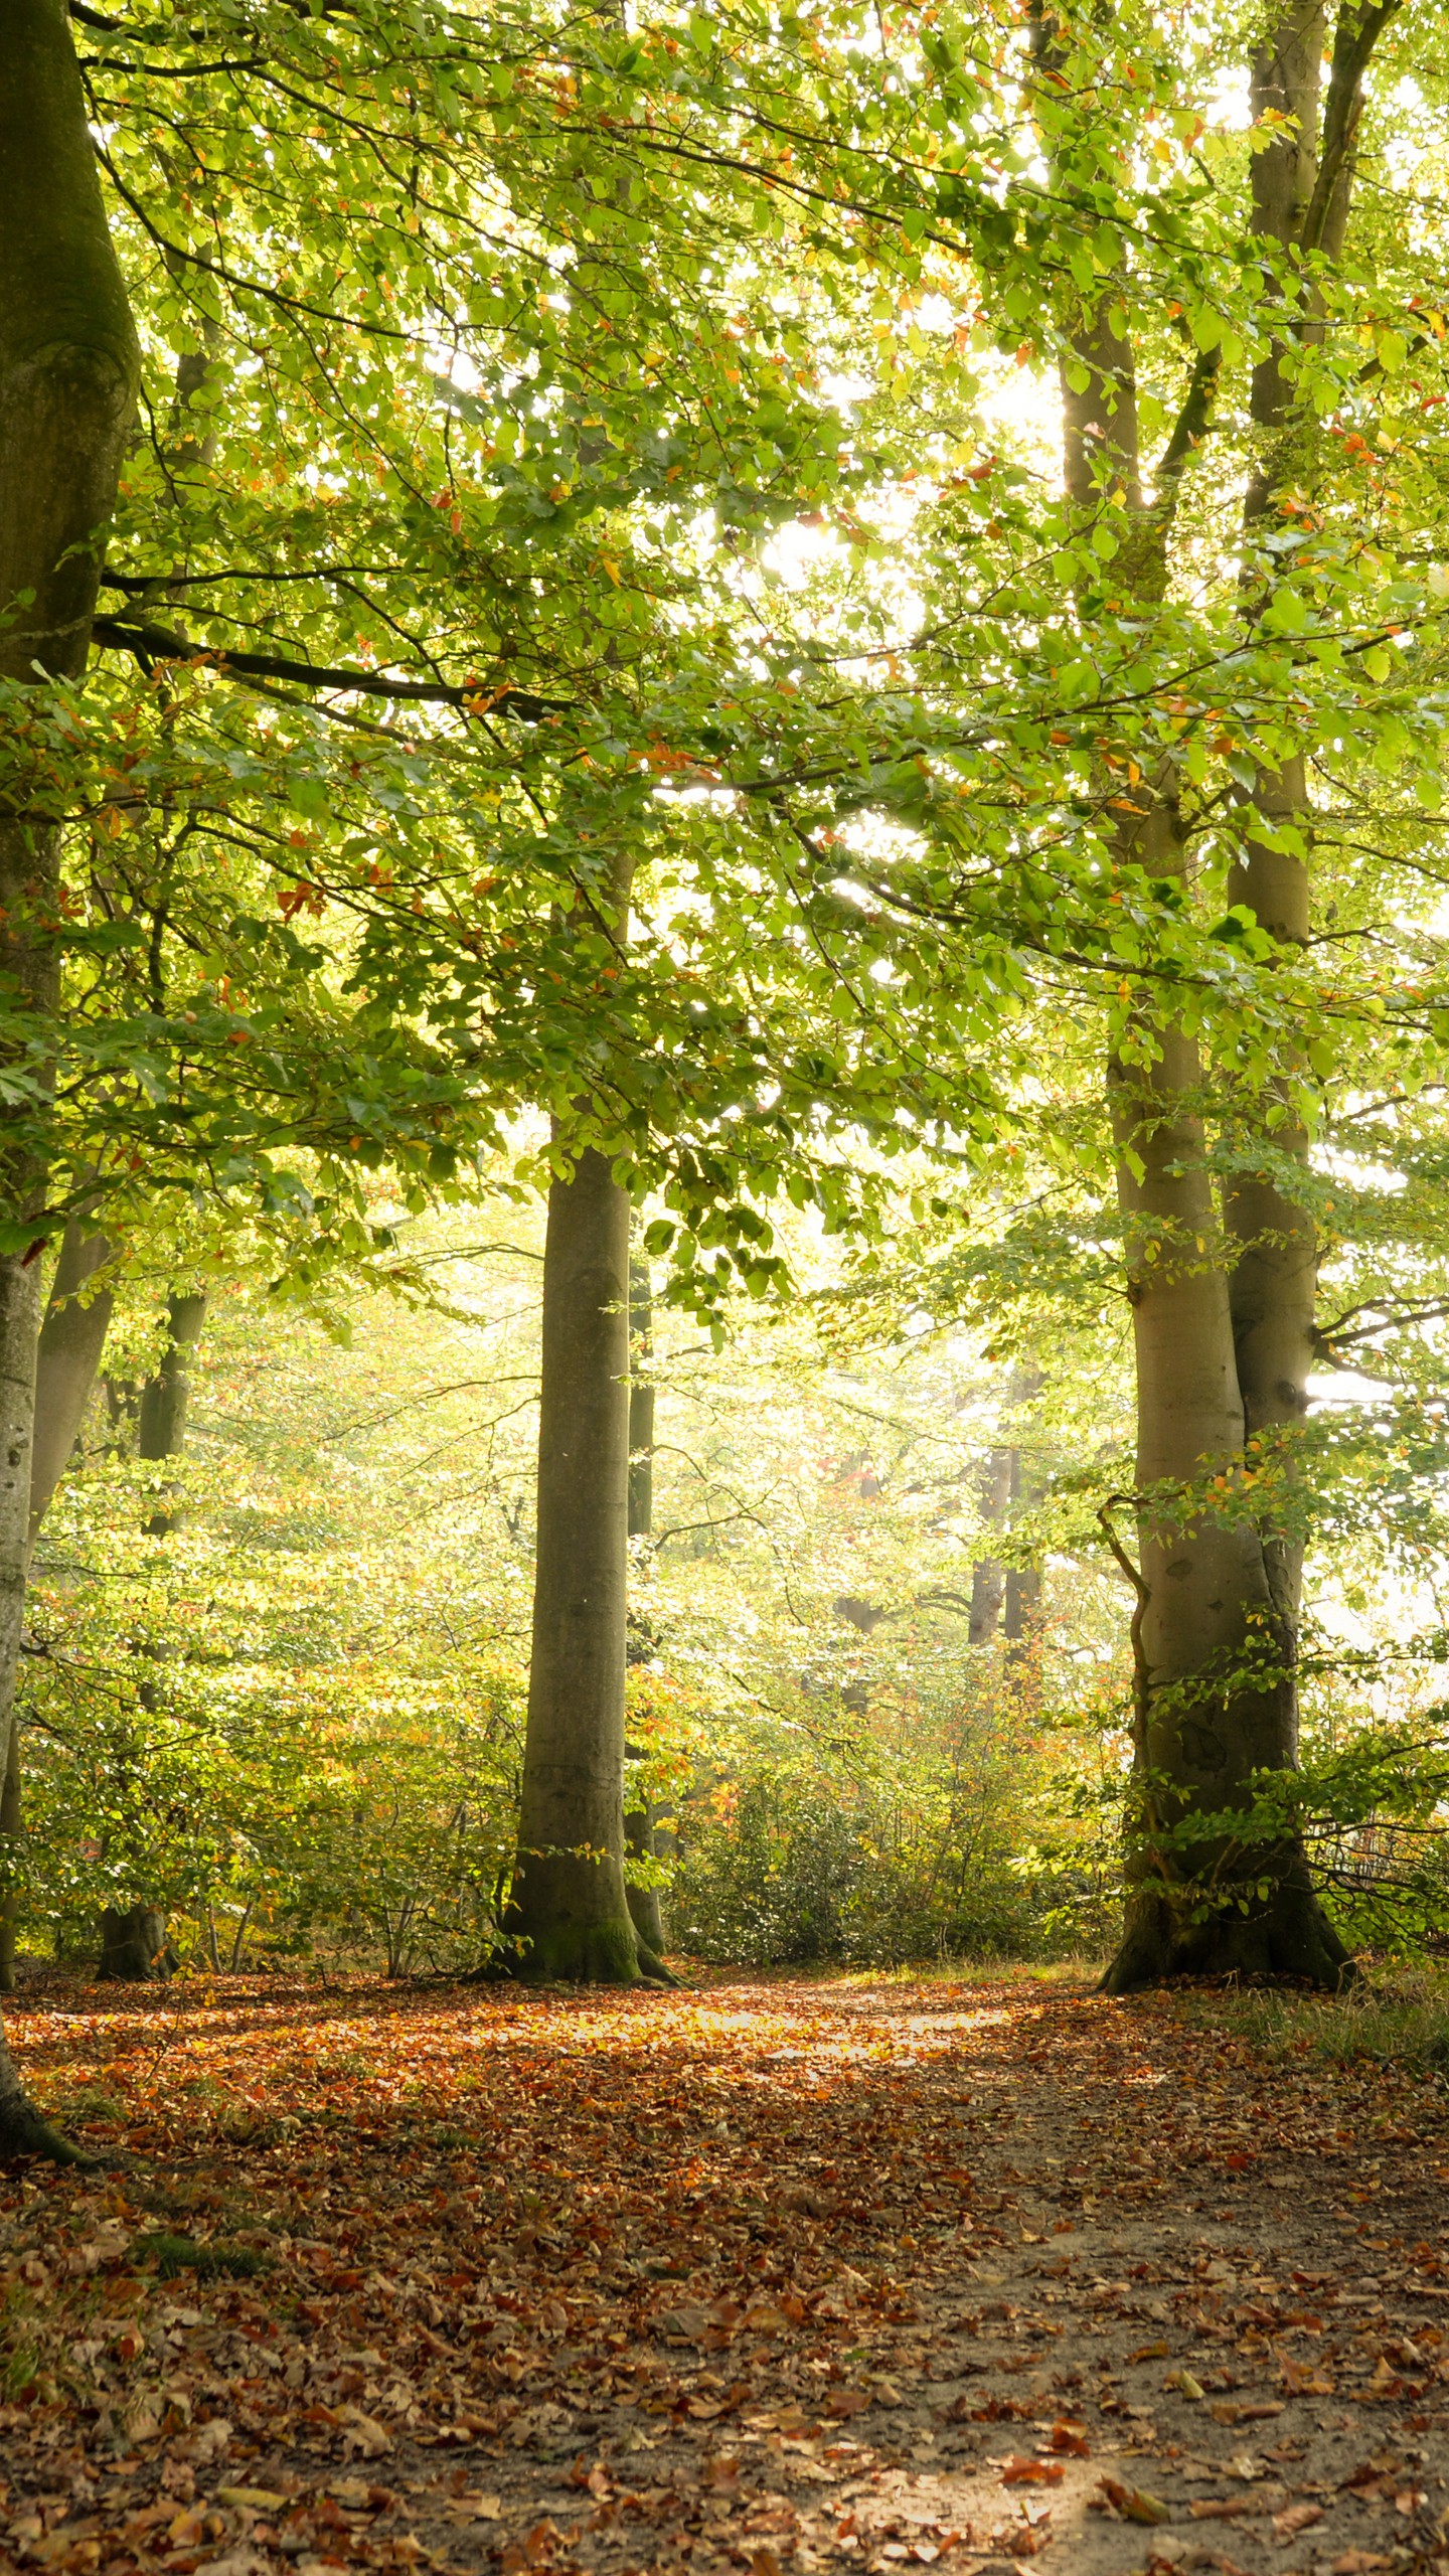
<path id="1" fill-rule="evenodd" d="M 1325 144 L 1318 134 L 1323 15 L 1281 8 L 1253 64 L 1258 111 L 1292 118 L 1253 155 L 1253 224 L 1279 250 L 1341 240 L 1364 67 L 1392 15 L 1346 8 L 1333 57 Z M 1057 31 L 1039 10 L 1036 54 L 1052 67 Z M 1305 160 L 1307 155 L 1307 160 Z M 1297 224 L 1297 232 L 1292 227 Z M 1315 229 L 1318 224 L 1318 229 Z M 1281 291 L 1287 270 L 1271 268 Z M 1214 358 L 1199 361 L 1183 412 L 1145 495 L 1132 343 L 1114 335 L 1122 281 L 1075 319 L 1062 379 L 1065 484 L 1083 510 L 1116 500 L 1127 520 L 1119 587 L 1145 611 L 1168 582 L 1176 497 L 1207 430 Z M 1279 366 L 1258 371 L 1253 415 L 1271 428 L 1284 404 Z M 1258 477 L 1261 482 L 1261 477 Z M 1248 495 L 1248 515 L 1263 492 Z M 1305 806 L 1292 762 L 1258 781 L 1258 809 Z M 1158 878 L 1186 873 L 1171 778 L 1147 781 L 1142 811 L 1119 829 L 1119 855 Z M 1245 835 L 1238 899 L 1284 938 L 1307 933 L 1307 873 Z M 1276 1533 L 1225 1522 L 1214 1476 L 1235 1476 L 1245 1437 L 1297 1419 L 1312 1319 L 1312 1231 L 1274 1175 L 1245 1177 L 1220 1211 L 1207 1170 L 1212 1108 L 1196 1043 L 1150 1002 L 1111 1066 L 1119 1208 L 1137 1355 L 1137 1587 L 1134 1780 L 1127 1927 L 1106 1971 L 1122 1994 L 1173 1973 L 1269 1973 L 1338 1986 L 1348 1955 L 1323 1914 L 1292 1834 L 1253 1839 L 1258 1772 L 1297 1767 L 1297 1571 Z M 1276 1136 L 1276 1172 L 1281 1144 Z M 1307 1319 L 1307 1327 L 1305 1327 Z M 1284 1391 L 1287 1388 L 1287 1391 Z M 1209 1829 L 1243 1816 L 1243 1829 Z M 1194 1834 L 1194 1821 L 1204 1829 Z"/>

